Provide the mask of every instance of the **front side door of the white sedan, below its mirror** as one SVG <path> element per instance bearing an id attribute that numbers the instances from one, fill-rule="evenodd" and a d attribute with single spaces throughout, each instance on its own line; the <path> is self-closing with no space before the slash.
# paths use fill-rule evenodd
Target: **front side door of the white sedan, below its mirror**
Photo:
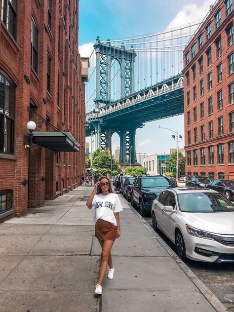
<path id="1" fill-rule="evenodd" d="M 165 212 L 165 210 L 162 209 L 161 214 L 162 231 L 173 241 L 177 211 L 176 197 L 173 192 L 168 191 L 165 206 L 172 206 L 175 210 L 175 212 Z"/>

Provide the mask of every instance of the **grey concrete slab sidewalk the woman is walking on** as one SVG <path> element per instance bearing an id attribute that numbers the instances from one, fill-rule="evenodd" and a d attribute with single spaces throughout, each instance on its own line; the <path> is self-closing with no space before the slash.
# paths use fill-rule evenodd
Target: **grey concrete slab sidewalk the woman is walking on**
<path id="1" fill-rule="evenodd" d="M 94 296 L 101 249 L 85 206 L 91 191 L 0 224 L 0 312 L 227 311 L 121 196 L 115 278 Z"/>

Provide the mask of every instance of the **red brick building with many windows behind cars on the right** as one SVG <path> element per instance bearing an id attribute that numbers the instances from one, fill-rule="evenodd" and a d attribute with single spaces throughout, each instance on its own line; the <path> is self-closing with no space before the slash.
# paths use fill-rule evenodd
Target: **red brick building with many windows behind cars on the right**
<path id="1" fill-rule="evenodd" d="M 234 10 L 217 0 L 184 50 L 186 175 L 234 179 Z"/>

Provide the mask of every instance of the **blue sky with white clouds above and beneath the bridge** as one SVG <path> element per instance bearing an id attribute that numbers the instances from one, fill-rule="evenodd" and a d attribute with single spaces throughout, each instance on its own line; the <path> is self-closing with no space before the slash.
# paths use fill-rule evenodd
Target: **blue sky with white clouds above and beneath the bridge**
<path id="1" fill-rule="evenodd" d="M 163 31 L 205 17 L 215 0 L 79 0 L 79 53 L 89 56 L 96 36 L 120 39 Z M 184 147 L 184 116 L 148 122 L 136 130 L 136 152 L 169 153 L 176 147 L 173 134 L 158 126 L 179 131 Z M 86 142 L 91 142 L 90 138 Z M 119 136 L 112 136 L 112 153 Z"/>

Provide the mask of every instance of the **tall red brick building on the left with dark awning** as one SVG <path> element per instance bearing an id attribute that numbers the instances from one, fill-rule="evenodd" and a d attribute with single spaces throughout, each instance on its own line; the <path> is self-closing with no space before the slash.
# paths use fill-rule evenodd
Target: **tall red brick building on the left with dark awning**
<path id="1" fill-rule="evenodd" d="M 78 0 L 0 0 L 0 8 L 2 219 L 79 185 L 88 61 L 78 53 Z"/>

